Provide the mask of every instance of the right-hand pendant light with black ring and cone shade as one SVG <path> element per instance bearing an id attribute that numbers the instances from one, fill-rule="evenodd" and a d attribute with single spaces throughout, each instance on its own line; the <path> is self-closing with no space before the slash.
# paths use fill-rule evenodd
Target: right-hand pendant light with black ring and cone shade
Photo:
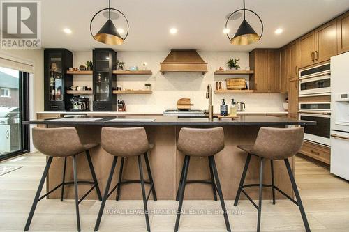
<path id="1" fill-rule="evenodd" d="M 252 10 L 246 9 L 245 8 L 245 0 L 243 0 L 243 1 L 244 1 L 244 8 L 239 9 L 239 10 L 235 10 L 233 13 L 231 13 L 229 15 L 227 22 L 225 22 L 225 29 L 228 29 L 228 22 L 230 20 L 230 17 L 232 17 L 232 15 L 234 15 L 238 11 L 242 11 L 242 10 L 244 11 L 244 20 L 242 20 L 242 23 L 240 24 L 239 29 L 237 29 L 237 32 L 235 33 L 234 37 L 230 38 L 228 33 L 227 33 L 227 36 L 228 36 L 230 43 L 232 45 L 251 45 L 251 43 L 258 42 L 258 40 L 260 40 L 260 38 L 262 38 L 262 34 L 263 34 L 263 22 L 262 22 L 262 20 Z M 258 33 L 255 32 L 255 30 L 252 28 L 252 26 L 247 22 L 246 11 L 253 13 L 260 20 L 260 24 L 262 24 L 262 32 L 260 33 L 260 36 L 258 35 Z"/>

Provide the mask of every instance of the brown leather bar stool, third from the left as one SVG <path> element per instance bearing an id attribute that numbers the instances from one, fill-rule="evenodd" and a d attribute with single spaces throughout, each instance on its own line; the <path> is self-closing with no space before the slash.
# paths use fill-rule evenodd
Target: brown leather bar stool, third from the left
<path id="1" fill-rule="evenodd" d="M 179 219 L 181 217 L 181 208 L 183 206 L 184 190 L 187 183 L 207 183 L 212 185 L 214 190 L 214 200 L 216 201 L 216 190 L 221 201 L 225 226 L 227 231 L 230 231 L 230 224 L 227 210 L 223 199 L 223 192 L 221 183 L 219 182 L 218 171 L 214 155 L 219 153 L 224 148 L 224 131 L 222 127 L 211 129 L 196 129 L 196 128 L 181 128 L 178 138 L 177 149 L 184 153 L 184 164 L 181 171 L 181 180 L 177 192 L 177 201 L 179 199 L 179 206 L 177 210 L 177 219 L 174 231 L 178 231 Z M 189 161 L 193 157 L 208 157 L 209 169 L 211 171 L 211 181 L 207 180 L 186 180 L 188 174 Z"/>

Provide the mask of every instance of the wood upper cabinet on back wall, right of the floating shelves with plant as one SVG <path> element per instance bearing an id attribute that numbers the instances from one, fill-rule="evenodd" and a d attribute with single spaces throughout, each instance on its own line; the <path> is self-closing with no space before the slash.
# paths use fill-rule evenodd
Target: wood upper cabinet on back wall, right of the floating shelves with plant
<path id="1" fill-rule="evenodd" d="M 250 66 L 254 74 L 250 88 L 255 93 L 279 93 L 279 49 L 255 49 L 250 53 Z"/>

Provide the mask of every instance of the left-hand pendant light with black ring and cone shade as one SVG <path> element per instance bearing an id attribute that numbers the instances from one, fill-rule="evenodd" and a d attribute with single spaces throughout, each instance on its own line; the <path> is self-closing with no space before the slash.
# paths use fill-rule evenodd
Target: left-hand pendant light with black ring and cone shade
<path id="1" fill-rule="evenodd" d="M 101 29 L 96 33 L 96 35 L 94 35 L 92 33 L 92 22 L 94 21 L 94 18 L 96 17 L 96 15 L 98 15 L 98 13 L 101 13 L 101 11 L 103 10 L 109 10 L 109 18 L 107 20 L 107 22 L 105 22 L 105 24 L 101 27 Z M 119 34 L 119 32 L 117 31 L 117 28 L 114 26 L 111 18 L 110 18 L 110 12 L 114 10 L 117 11 L 118 13 L 120 13 L 121 15 L 124 16 L 126 23 L 127 23 L 127 33 L 125 38 L 122 38 Z M 103 42 L 107 45 L 121 45 L 124 43 L 124 40 L 126 40 L 126 37 L 128 36 L 128 20 L 126 18 L 126 16 L 124 15 L 124 13 L 122 13 L 120 10 L 114 9 L 114 8 L 110 8 L 110 0 L 109 0 L 109 8 L 104 8 L 102 10 L 99 10 L 94 17 L 92 17 L 92 20 L 89 24 L 89 30 L 91 32 L 91 36 L 94 38 L 94 40 L 98 41 L 98 42 Z"/>

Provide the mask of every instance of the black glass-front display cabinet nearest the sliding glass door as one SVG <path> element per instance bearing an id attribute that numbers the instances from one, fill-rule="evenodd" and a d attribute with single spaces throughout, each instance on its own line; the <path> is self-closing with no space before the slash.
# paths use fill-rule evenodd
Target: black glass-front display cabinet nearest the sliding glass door
<path id="1" fill-rule="evenodd" d="M 73 67 L 73 53 L 67 49 L 45 49 L 44 91 L 45 111 L 66 111 L 69 105 L 66 90 L 73 86 L 73 76 L 67 75 Z"/>

